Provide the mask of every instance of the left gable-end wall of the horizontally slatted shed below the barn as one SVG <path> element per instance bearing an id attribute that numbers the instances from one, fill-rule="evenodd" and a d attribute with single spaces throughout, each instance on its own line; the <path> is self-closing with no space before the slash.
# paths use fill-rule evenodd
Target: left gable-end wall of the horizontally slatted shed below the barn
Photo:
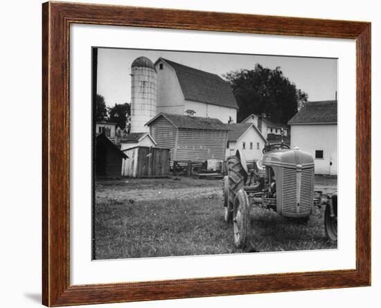
<path id="1" fill-rule="evenodd" d="M 170 149 L 170 160 L 173 160 L 177 138 L 177 128 L 162 116 L 150 125 L 150 134 L 159 147 Z"/>

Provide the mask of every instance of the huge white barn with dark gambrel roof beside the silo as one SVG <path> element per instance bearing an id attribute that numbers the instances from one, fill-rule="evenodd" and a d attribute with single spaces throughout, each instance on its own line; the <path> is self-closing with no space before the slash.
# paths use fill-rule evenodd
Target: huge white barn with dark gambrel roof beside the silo
<path id="1" fill-rule="evenodd" d="M 220 76 L 159 58 L 157 71 L 157 114 L 218 118 L 222 123 L 237 120 L 238 105 L 230 84 Z"/>

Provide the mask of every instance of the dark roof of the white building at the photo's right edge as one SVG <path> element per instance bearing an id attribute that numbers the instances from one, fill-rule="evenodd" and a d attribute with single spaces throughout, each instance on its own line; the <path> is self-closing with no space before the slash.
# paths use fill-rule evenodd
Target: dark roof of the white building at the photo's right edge
<path id="1" fill-rule="evenodd" d="M 308 102 L 288 121 L 290 125 L 337 123 L 337 100 Z"/>

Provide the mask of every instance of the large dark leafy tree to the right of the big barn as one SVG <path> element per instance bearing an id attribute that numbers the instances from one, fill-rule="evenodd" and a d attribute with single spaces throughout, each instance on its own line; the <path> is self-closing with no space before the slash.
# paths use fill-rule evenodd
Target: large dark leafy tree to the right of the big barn
<path id="1" fill-rule="evenodd" d="M 237 120 L 249 114 L 267 114 L 275 121 L 287 123 L 308 100 L 308 94 L 296 89 L 294 82 L 283 75 L 281 68 L 231 71 L 223 77 L 231 84 L 238 103 Z"/>

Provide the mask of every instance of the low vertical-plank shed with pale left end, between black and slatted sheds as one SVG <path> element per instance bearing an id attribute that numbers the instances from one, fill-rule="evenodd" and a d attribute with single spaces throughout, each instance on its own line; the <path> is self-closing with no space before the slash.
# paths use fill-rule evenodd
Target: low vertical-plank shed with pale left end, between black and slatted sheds
<path id="1" fill-rule="evenodd" d="M 123 152 L 129 157 L 123 161 L 123 176 L 160 177 L 167 176 L 170 171 L 168 148 L 136 145 Z"/>

